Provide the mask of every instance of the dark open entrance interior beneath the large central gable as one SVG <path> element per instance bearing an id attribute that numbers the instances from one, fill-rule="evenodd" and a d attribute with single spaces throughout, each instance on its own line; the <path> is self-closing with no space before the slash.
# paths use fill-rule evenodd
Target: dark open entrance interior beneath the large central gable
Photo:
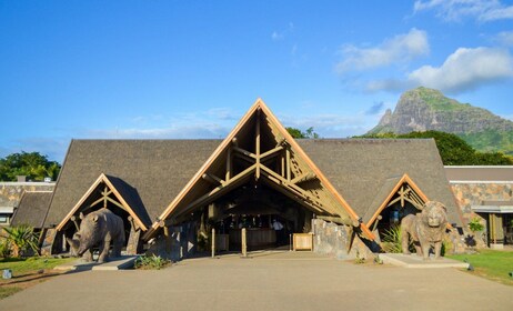
<path id="1" fill-rule="evenodd" d="M 209 250 L 213 228 L 221 251 L 241 250 L 243 228 L 250 251 L 289 248 L 291 234 L 310 232 L 313 217 L 312 211 L 262 181 L 250 181 L 194 214 L 200 250 Z"/>

